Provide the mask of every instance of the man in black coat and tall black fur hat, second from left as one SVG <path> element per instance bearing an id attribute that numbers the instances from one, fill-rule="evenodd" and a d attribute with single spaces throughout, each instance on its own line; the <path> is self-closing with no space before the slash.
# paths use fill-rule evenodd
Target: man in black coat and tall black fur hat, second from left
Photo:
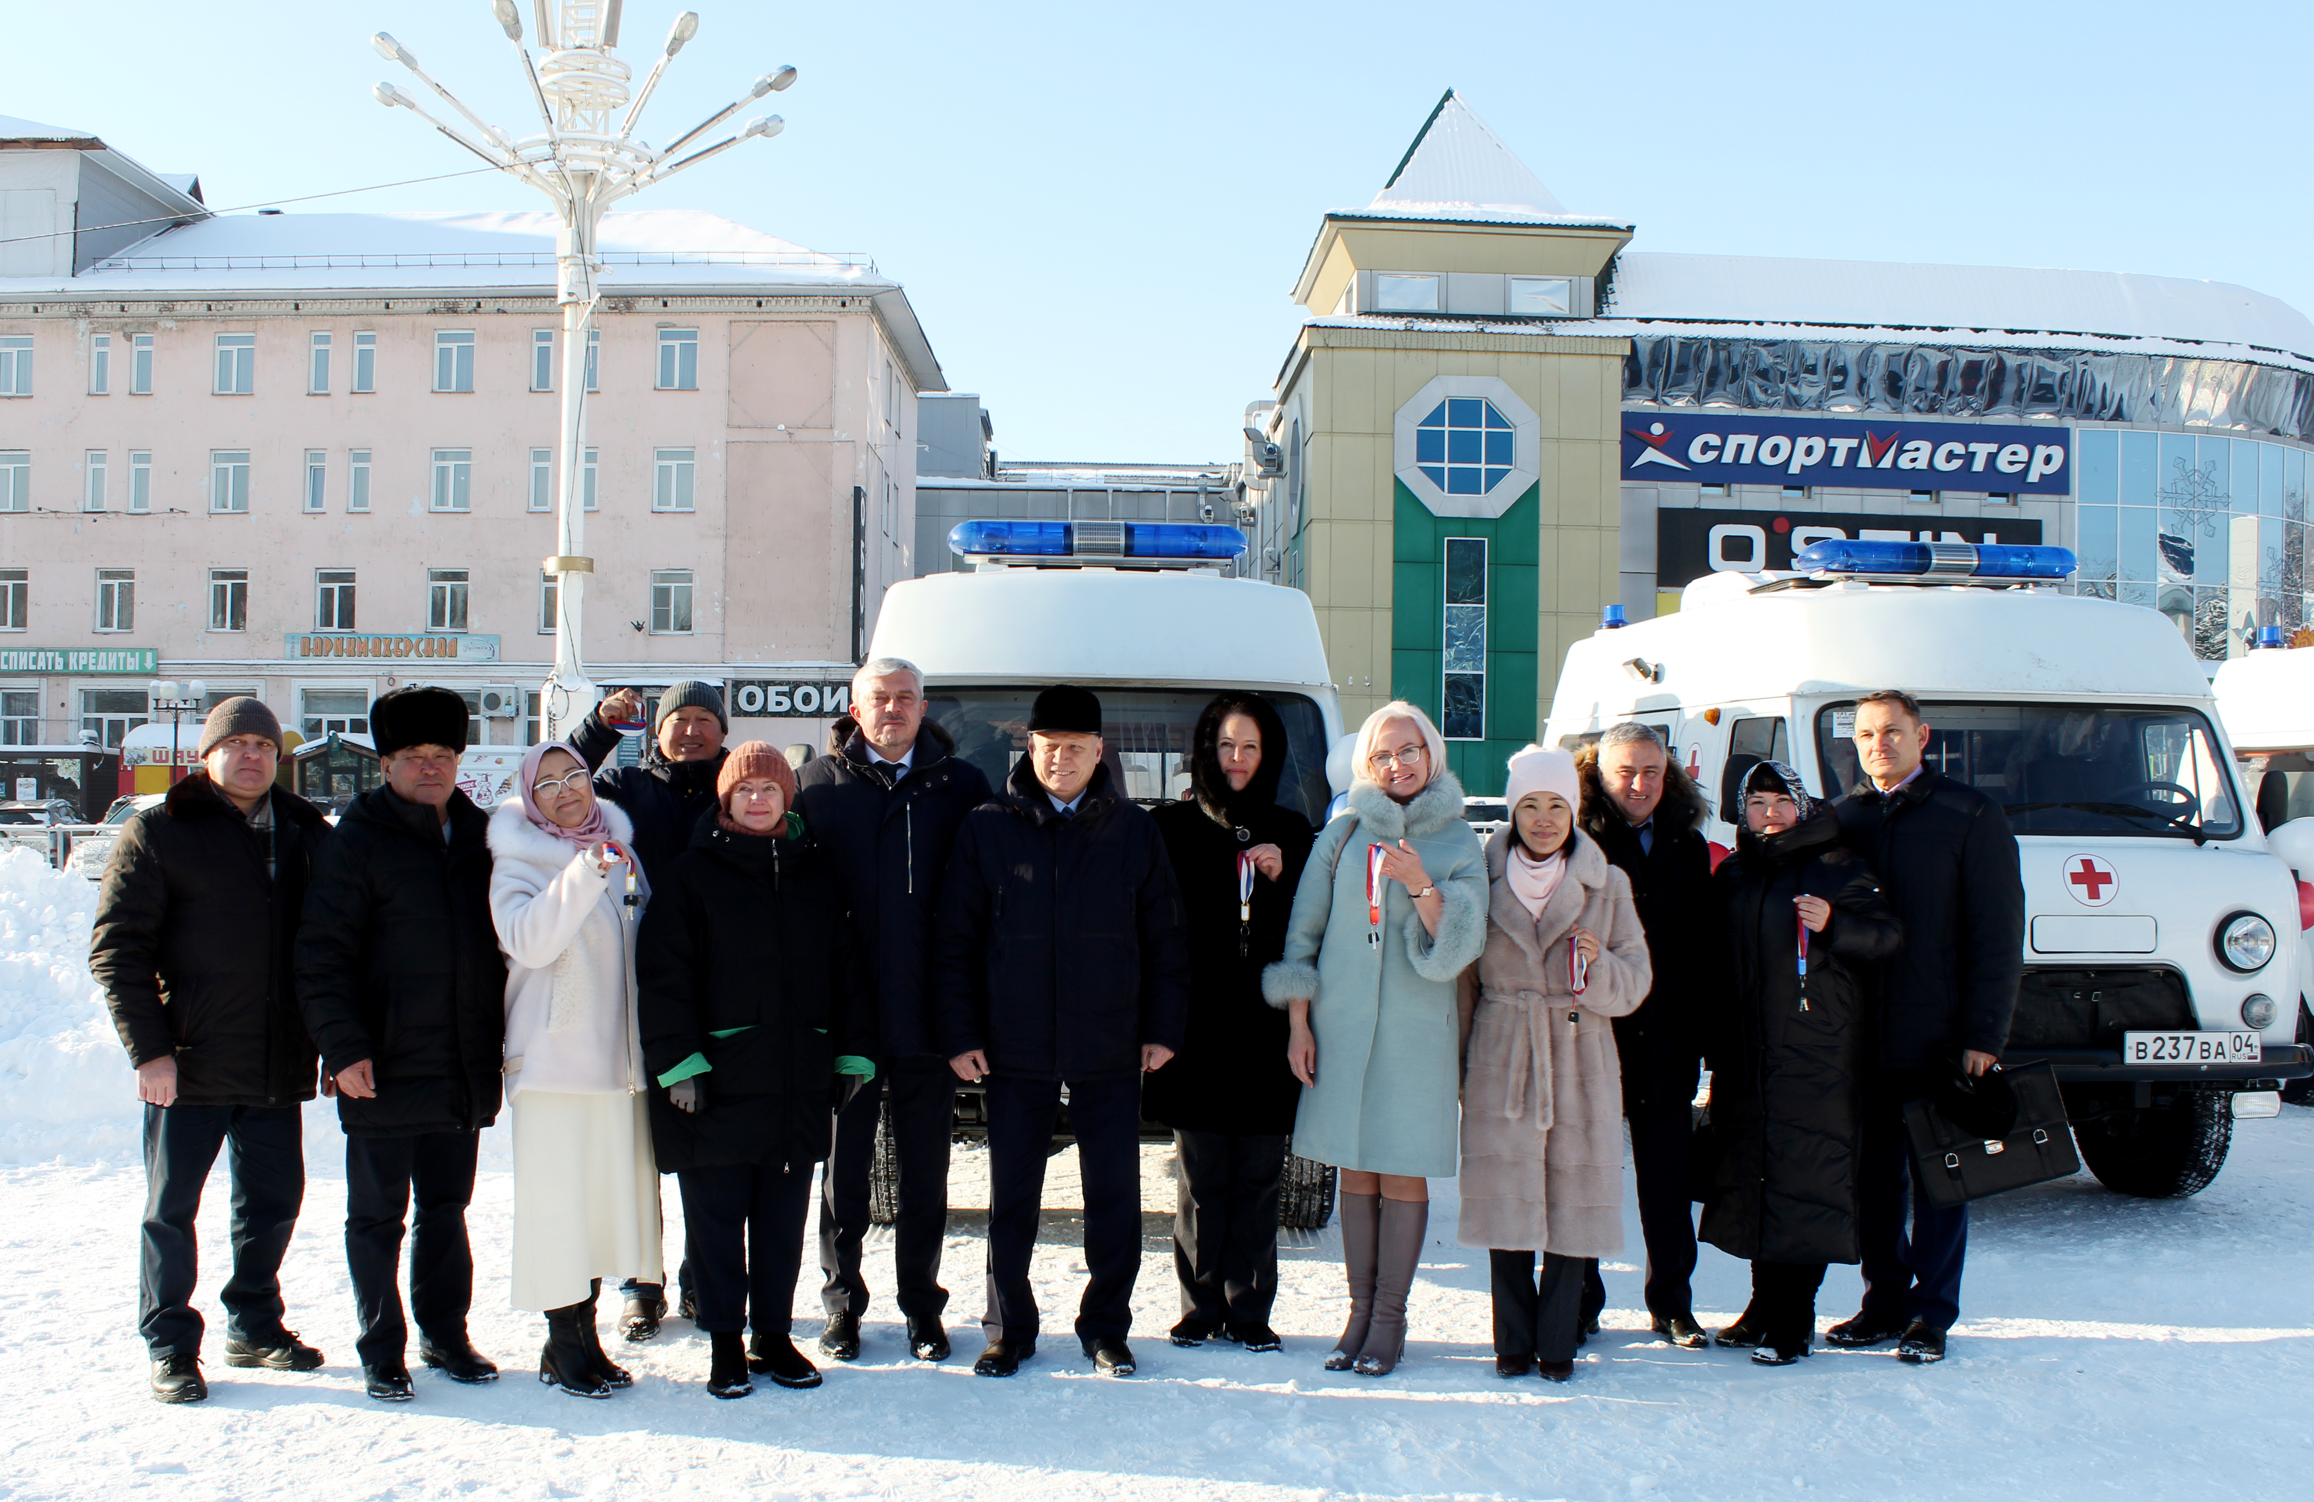
<path id="1" fill-rule="evenodd" d="M 458 1382 L 498 1368 L 465 1335 L 474 1148 L 498 1120 L 507 960 L 491 923 L 488 815 L 458 792 L 465 699 L 403 687 L 370 706 L 386 785 L 354 798 L 322 852 L 296 942 L 299 1002 L 338 1088 L 345 1264 L 370 1398 L 407 1402 L 400 1259 L 419 1359 Z"/>

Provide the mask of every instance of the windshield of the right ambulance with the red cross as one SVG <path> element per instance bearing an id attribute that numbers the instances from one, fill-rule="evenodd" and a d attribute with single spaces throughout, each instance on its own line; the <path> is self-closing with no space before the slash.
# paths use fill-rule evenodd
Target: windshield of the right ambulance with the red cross
<path id="1" fill-rule="evenodd" d="M 1925 764 L 2002 801 L 2020 835 L 2242 833 L 2233 775 L 2210 722 L 2187 708 L 2110 704 L 1923 704 Z M 1816 713 L 1830 782 L 1856 787 L 1856 706 Z"/>

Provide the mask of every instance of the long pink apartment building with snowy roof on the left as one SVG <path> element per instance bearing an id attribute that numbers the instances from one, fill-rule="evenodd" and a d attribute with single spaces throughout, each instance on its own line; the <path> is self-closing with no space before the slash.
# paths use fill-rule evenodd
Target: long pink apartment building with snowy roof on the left
<path id="1" fill-rule="evenodd" d="M 916 572 L 939 363 L 865 257 L 683 211 L 602 245 L 588 671 L 817 743 Z M 0 118 L 0 743 L 118 743 L 150 678 L 305 736 L 442 683 L 535 738 L 560 338 L 541 213 L 218 218 Z"/>

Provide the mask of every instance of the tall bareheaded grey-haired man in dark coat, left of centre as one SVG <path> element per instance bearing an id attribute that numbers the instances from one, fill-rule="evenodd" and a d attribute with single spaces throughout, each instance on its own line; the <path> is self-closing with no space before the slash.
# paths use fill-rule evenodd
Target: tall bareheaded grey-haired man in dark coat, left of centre
<path id="1" fill-rule="evenodd" d="M 949 1234 L 949 1134 L 956 1074 L 933 1035 L 933 914 L 939 879 L 965 815 L 988 801 L 981 768 L 951 754 L 953 741 L 923 717 L 923 671 L 877 657 L 852 678 L 852 715 L 826 757 L 798 775 L 796 812 L 835 866 L 845 907 L 868 958 L 875 997 L 877 1076 L 835 1118 L 835 1148 L 819 1183 L 819 1271 L 828 1324 L 819 1349 L 838 1361 L 861 1352 L 868 1280 L 868 1169 L 889 1097 L 891 1150 L 900 1171 L 893 1261 L 907 1349 L 944 1361 L 939 1247 Z"/>

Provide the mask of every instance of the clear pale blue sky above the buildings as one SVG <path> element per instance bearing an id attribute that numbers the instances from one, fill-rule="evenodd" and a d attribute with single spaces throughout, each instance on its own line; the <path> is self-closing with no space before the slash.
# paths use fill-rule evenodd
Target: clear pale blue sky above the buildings
<path id="1" fill-rule="evenodd" d="M 636 206 L 872 255 L 1014 458 L 1236 458 L 1319 215 L 1375 194 L 1446 86 L 1645 250 L 2145 271 L 2314 310 L 2307 5 L 690 5 L 646 139 L 803 76 L 784 137 Z M 629 0 L 627 56 L 678 9 Z M 370 102 L 407 83 L 377 28 L 521 127 L 484 0 L 7 0 L 0 113 L 199 171 L 215 206 L 470 164 Z"/>

